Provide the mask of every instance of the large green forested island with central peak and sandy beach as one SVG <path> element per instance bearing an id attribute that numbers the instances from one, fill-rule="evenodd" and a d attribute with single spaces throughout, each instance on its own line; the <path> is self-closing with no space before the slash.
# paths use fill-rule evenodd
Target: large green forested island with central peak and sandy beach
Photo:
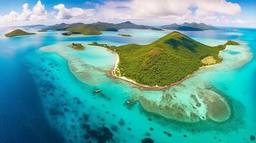
<path id="1" fill-rule="evenodd" d="M 237 45 L 227 41 L 218 46 L 207 46 L 179 32 L 171 32 L 151 44 L 127 44 L 123 46 L 103 46 L 118 54 L 118 61 L 112 74 L 115 77 L 143 87 L 166 87 L 186 79 L 202 66 L 222 61 L 219 51 L 227 45 Z"/>

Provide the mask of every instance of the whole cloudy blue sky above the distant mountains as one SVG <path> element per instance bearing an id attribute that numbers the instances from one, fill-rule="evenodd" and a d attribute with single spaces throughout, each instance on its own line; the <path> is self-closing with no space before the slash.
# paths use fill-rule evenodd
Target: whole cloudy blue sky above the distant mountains
<path id="1" fill-rule="evenodd" d="M 256 28 L 256 0 L 0 0 L 0 27 L 97 21 Z"/>

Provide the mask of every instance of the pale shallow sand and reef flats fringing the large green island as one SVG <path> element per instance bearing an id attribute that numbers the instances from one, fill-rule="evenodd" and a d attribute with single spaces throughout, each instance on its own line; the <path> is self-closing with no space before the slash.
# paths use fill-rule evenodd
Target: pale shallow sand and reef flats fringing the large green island
<path id="1" fill-rule="evenodd" d="M 87 45 L 85 46 L 88 47 Z M 81 51 L 73 52 L 65 44 L 47 46 L 41 50 L 57 52 L 57 54 L 67 59 L 70 70 L 77 79 L 86 84 L 97 86 L 103 84 L 105 78 L 108 78 L 105 74 L 113 68 L 117 58 L 115 54 L 101 47 L 89 46 L 89 50 L 90 48 L 93 50 L 105 50 L 101 52 L 110 54 L 108 56 L 112 59 L 110 58 L 110 61 L 105 63 L 105 58 L 108 58 L 108 56 L 104 56 L 104 62 L 90 61 L 79 53 Z M 215 122 L 226 121 L 231 115 L 229 101 L 217 92 L 207 89 L 206 87 L 209 86 L 209 83 L 206 79 L 212 74 L 217 74 L 217 71 L 229 71 L 238 68 L 252 57 L 247 46 L 227 46 L 226 50 L 237 51 L 240 54 L 230 54 L 224 50 L 220 54 L 224 59 L 222 63 L 199 69 L 192 77 L 179 85 L 166 89 L 166 91 L 152 94 L 149 93 L 150 91 L 139 90 L 139 94 L 133 94 L 131 98 L 138 100 L 146 111 L 179 122 L 199 122 L 207 119 Z M 88 53 L 89 51 L 82 52 Z M 97 55 L 98 52 L 88 55 L 89 57 L 94 54 Z M 132 88 L 134 85 L 128 84 L 128 86 Z M 216 109 L 222 112 L 217 112 Z"/>

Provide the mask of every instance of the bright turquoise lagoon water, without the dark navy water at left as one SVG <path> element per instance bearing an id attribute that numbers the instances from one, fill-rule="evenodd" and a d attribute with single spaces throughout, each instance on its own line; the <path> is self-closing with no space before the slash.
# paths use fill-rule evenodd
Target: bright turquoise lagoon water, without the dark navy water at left
<path id="1" fill-rule="evenodd" d="M 242 36 L 241 34 L 227 34 L 231 32 L 193 31 L 184 32 L 184 34 L 205 44 L 213 45 L 228 39 L 239 40 L 250 46 L 252 53 L 255 51 L 255 43 L 252 43 L 255 40 L 253 33 L 255 31 L 240 29 L 239 33 L 242 33 Z M 245 54 L 247 46 L 229 46 L 229 51 L 222 52 L 224 62 L 216 65 L 222 67 L 220 70 L 212 70 L 211 68 L 214 67 L 210 67 L 196 72 L 194 77 L 184 81 L 183 84 L 186 87 L 180 90 L 183 91 L 179 92 L 180 96 L 177 95 L 181 98 L 182 95 L 193 92 L 195 84 L 202 87 L 210 84 L 228 99 L 232 107 L 232 117 L 224 123 L 189 124 L 163 119 L 163 117 L 148 113 L 138 103 L 131 108 L 127 107 L 126 100 L 133 96 L 148 97 L 157 101 L 161 99 L 163 92 L 141 91 L 132 84 L 107 77 L 105 73 L 115 63 L 115 54 L 102 48 L 86 45 L 91 41 L 110 45 L 148 44 L 168 31 L 123 30 L 118 33 L 131 34 L 133 37 L 121 37 L 115 32 L 105 32 L 100 36 L 67 37 L 55 31 L 48 31 L 37 35 L 40 40 L 33 42 L 40 41 L 42 44 L 37 45 L 35 50 L 29 52 L 24 59 L 29 66 L 29 72 L 37 82 L 39 96 L 49 123 L 61 132 L 67 142 L 90 140 L 90 137 L 85 135 L 88 126 L 96 131 L 100 130 L 100 127 L 108 127 L 113 133 L 115 142 L 124 142 L 124 140 L 125 142 L 141 142 L 141 139 L 146 137 L 150 137 L 155 142 L 203 142 L 205 139 L 208 139 L 207 142 L 250 141 L 250 135 L 255 134 L 256 127 L 255 87 L 253 86 L 256 64 L 254 59 L 241 67 L 237 66 L 240 63 L 235 62 L 241 61 L 242 58 L 247 60 L 250 55 Z M 202 34 L 205 34 L 204 39 Z M 29 37 L 16 37 L 11 40 L 22 39 L 29 39 Z M 73 41 L 84 43 L 86 50 L 79 52 L 62 48 L 63 45 Z M 65 55 L 60 56 L 57 53 L 45 53 L 39 50 L 45 46 L 57 48 Z M 245 56 L 230 54 L 230 51 L 237 51 Z M 63 58 L 65 56 L 71 60 L 68 62 Z M 233 63 L 236 64 L 233 65 Z M 101 89 L 102 92 L 94 94 L 95 89 Z"/>

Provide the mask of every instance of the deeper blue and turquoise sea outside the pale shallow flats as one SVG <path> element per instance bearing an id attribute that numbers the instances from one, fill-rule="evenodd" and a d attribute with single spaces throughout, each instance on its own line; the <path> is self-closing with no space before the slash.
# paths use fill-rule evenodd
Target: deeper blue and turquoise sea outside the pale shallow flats
<path id="1" fill-rule="evenodd" d="M 1 143 L 89 142 L 90 137 L 86 138 L 85 136 L 80 136 L 80 134 L 84 134 L 80 129 L 80 123 L 76 122 L 80 119 L 80 114 L 91 114 L 91 118 L 93 118 L 95 114 L 95 119 L 93 118 L 94 121 L 92 121 L 90 124 L 99 125 L 105 121 L 105 123 L 103 123 L 104 126 L 108 126 L 108 124 L 110 126 L 111 124 L 114 124 L 114 122 L 119 121 L 119 130 L 118 132 L 113 133 L 114 139 L 110 142 L 139 142 L 141 139 L 147 137 L 151 137 L 155 140 L 155 142 L 177 142 L 180 140 L 181 142 L 203 142 L 205 137 L 209 137 L 209 142 L 234 142 L 234 139 L 240 139 L 240 142 L 255 142 L 255 140 L 253 141 L 250 138 L 251 136 L 256 136 L 256 117 L 255 112 L 252 112 L 255 111 L 256 107 L 254 106 L 256 104 L 256 59 L 254 56 L 245 65 L 231 71 L 230 73 L 232 75 L 229 74 L 230 77 L 219 79 L 212 83 L 215 87 L 217 87 L 217 89 L 219 89 L 219 91 L 227 94 L 227 97 L 234 98 L 238 101 L 241 99 L 241 104 L 244 104 L 242 107 L 245 107 L 246 111 L 243 112 L 246 119 L 241 117 L 241 121 L 243 120 L 245 123 L 240 122 L 242 124 L 241 127 L 234 127 L 234 131 L 232 132 L 229 131 L 229 129 L 226 131 L 225 129 L 214 128 L 210 131 L 205 131 L 204 134 L 200 136 L 201 133 L 194 133 L 194 129 L 191 128 L 189 128 L 190 131 L 187 131 L 185 129 L 186 127 L 184 127 L 184 129 L 171 129 L 169 126 L 176 127 L 176 125 L 169 124 L 169 122 L 172 121 L 165 120 L 161 122 L 159 117 L 156 117 L 158 122 L 143 123 L 143 119 L 146 119 L 147 121 L 148 116 L 151 117 L 151 115 L 144 113 L 139 105 L 136 105 L 136 107 L 134 107 L 131 112 L 129 112 L 129 116 L 126 115 L 125 112 L 128 112 L 129 110 L 126 111 L 127 108 L 123 107 L 123 102 L 125 102 L 125 99 L 127 99 L 126 97 L 129 97 L 131 94 L 131 89 L 125 89 L 125 86 L 127 85 L 123 86 L 123 84 L 115 82 L 115 84 L 113 84 L 115 89 L 105 89 L 107 97 L 111 98 L 111 95 L 113 95 L 113 98 L 108 100 L 113 100 L 113 103 L 120 101 L 122 102 L 120 103 L 120 107 L 118 107 L 119 105 L 116 105 L 115 107 L 115 104 L 107 107 L 110 102 L 107 101 L 107 99 L 104 99 L 105 97 L 97 99 L 97 97 L 92 97 L 91 94 L 93 89 L 98 87 L 104 91 L 105 84 L 108 82 L 112 83 L 113 81 L 106 81 L 104 85 L 102 83 L 97 84 L 96 86 L 90 85 L 88 83 L 82 83 L 72 74 L 69 67 L 67 66 L 67 61 L 61 56 L 58 56 L 58 54 L 54 53 L 44 53 L 39 51 L 39 49 L 43 46 L 70 43 L 72 41 L 104 41 L 107 44 L 113 43 L 117 45 L 131 43 L 148 44 L 151 41 L 160 38 L 164 34 L 167 34 L 169 31 L 122 31 L 128 34 L 137 34 L 131 38 L 116 36 L 116 34 L 111 32 L 105 32 L 100 36 L 62 36 L 60 31 L 47 31 L 45 33 L 38 33 L 34 36 L 19 36 L 14 38 L 4 37 L 6 31 L 10 31 L 11 29 L 12 28 L 0 29 Z M 37 29 L 27 30 L 36 31 Z M 245 42 L 247 46 L 249 46 L 252 55 L 256 54 L 256 29 L 222 28 L 221 30 L 217 31 L 181 32 L 202 42 L 229 39 L 242 41 Z M 98 51 L 90 52 L 92 52 L 94 55 L 95 53 L 97 54 Z M 102 52 L 103 54 L 101 56 L 110 57 L 110 59 L 113 58 L 113 55 L 108 55 L 108 53 L 105 53 L 105 51 Z M 94 55 L 90 56 L 90 58 L 97 59 L 98 57 L 95 57 Z M 90 58 L 87 60 L 90 60 Z M 90 62 L 93 63 L 93 61 Z M 104 63 L 105 62 L 113 63 L 112 61 L 104 61 Z M 54 67 L 51 67 L 52 64 Z M 47 72 L 47 77 L 45 77 L 45 70 L 49 70 L 49 72 Z M 223 73 L 223 75 L 226 74 L 227 73 Z M 48 80 L 48 77 L 51 77 L 54 80 L 50 81 Z M 60 79 L 60 81 L 62 80 L 62 82 L 57 82 L 57 79 Z M 42 84 L 42 82 L 45 81 L 48 81 L 48 83 Z M 230 87 L 227 87 L 227 85 L 229 85 L 227 82 L 230 83 Z M 224 85 L 223 83 L 226 84 Z M 110 85 L 109 83 L 106 85 L 109 85 L 110 87 L 112 86 L 112 84 Z M 56 88 L 57 92 L 46 93 L 44 90 L 49 89 L 49 86 Z M 65 95 L 58 97 L 57 94 L 59 95 L 60 92 L 62 95 Z M 242 94 L 237 95 L 235 92 Z M 124 97 L 120 99 L 116 97 L 116 99 L 114 99 L 114 97 L 117 96 L 115 93 L 118 93 L 118 95 L 124 95 Z M 48 94 L 51 94 L 52 97 L 48 96 Z M 82 94 L 85 94 L 85 96 L 82 97 Z M 90 95 L 90 97 L 86 97 L 86 95 Z M 78 101 L 82 102 L 83 105 L 79 105 L 77 100 L 74 102 L 73 99 L 78 99 Z M 251 103 L 247 102 L 246 99 L 250 100 Z M 88 104 L 90 105 L 90 108 Z M 94 106 L 91 106 L 91 104 Z M 95 104 L 98 104 L 101 107 L 106 106 L 105 109 L 108 109 L 108 111 L 105 111 L 105 109 L 103 110 L 102 108 L 98 108 L 98 105 Z M 60 108 L 57 109 L 57 107 Z M 69 110 L 73 109 L 72 113 L 75 112 L 75 115 L 67 112 L 68 109 L 65 109 L 64 107 L 70 107 Z M 92 107 L 96 110 L 91 110 Z M 60 112 L 60 109 L 65 109 L 67 114 L 66 112 Z M 108 119 L 107 115 L 101 115 L 108 114 L 108 112 L 111 113 L 111 111 L 116 111 L 116 114 L 112 114 L 113 117 L 120 117 L 115 120 Z M 138 114 L 138 117 L 136 117 L 136 114 Z M 128 118 L 131 118 L 130 122 L 126 121 Z M 122 128 L 123 125 L 120 123 L 120 121 L 123 121 L 123 119 L 125 121 L 125 125 L 128 126 L 125 127 L 125 129 Z M 136 121 L 141 121 L 141 123 L 138 124 Z M 148 124 L 154 126 L 153 128 L 155 129 L 155 133 L 149 130 L 143 130 L 149 129 Z M 143 129 L 136 129 L 136 127 L 139 126 L 141 126 Z M 193 126 L 193 124 L 191 124 L 191 126 Z M 227 127 L 229 126 L 232 125 L 227 125 Z M 69 129 L 70 127 L 71 129 Z M 113 130 L 116 130 L 114 129 L 115 126 L 111 127 L 112 132 L 114 132 Z M 221 124 L 219 124 L 219 128 L 220 127 Z M 166 128 L 170 129 L 170 132 L 173 132 L 172 138 L 161 137 L 163 132 L 161 129 Z M 181 128 L 183 128 L 183 126 Z M 132 133 L 128 136 L 128 133 L 126 132 Z M 72 134 L 72 138 L 67 137 L 67 134 Z M 186 134 L 188 137 L 185 137 L 184 134 Z"/>

